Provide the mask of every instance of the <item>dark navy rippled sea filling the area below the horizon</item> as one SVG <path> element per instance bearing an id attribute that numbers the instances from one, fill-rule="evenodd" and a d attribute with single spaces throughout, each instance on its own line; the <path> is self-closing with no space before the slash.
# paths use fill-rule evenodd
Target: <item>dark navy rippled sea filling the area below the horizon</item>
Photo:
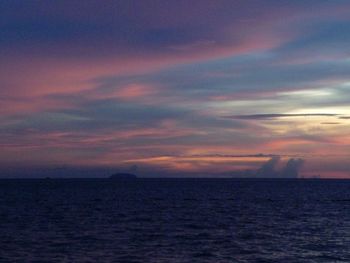
<path id="1" fill-rule="evenodd" d="M 350 262 L 350 180 L 0 180 L 0 262 Z"/>

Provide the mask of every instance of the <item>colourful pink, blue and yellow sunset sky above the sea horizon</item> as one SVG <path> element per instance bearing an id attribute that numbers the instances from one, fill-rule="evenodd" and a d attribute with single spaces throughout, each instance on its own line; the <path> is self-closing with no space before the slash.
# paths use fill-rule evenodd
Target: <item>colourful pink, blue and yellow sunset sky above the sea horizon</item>
<path id="1" fill-rule="evenodd" d="M 350 178 L 347 0 L 0 1 L 0 177 Z"/>

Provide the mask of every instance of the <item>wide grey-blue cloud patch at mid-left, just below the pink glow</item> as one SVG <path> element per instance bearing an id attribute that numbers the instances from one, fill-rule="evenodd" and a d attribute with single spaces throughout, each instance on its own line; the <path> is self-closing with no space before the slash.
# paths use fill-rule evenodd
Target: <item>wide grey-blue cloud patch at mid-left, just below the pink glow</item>
<path id="1" fill-rule="evenodd" d="M 16 120 L 7 130 L 38 129 L 41 131 L 86 131 L 122 130 L 156 126 L 162 120 L 182 119 L 190 111 L 166 106 L 150 106 L 126 103 L 117 100 L 86 102 L 79 109 L 31 113 L 12 116 Z M 1 130 L 1 128 L 0 128 Z"/>

